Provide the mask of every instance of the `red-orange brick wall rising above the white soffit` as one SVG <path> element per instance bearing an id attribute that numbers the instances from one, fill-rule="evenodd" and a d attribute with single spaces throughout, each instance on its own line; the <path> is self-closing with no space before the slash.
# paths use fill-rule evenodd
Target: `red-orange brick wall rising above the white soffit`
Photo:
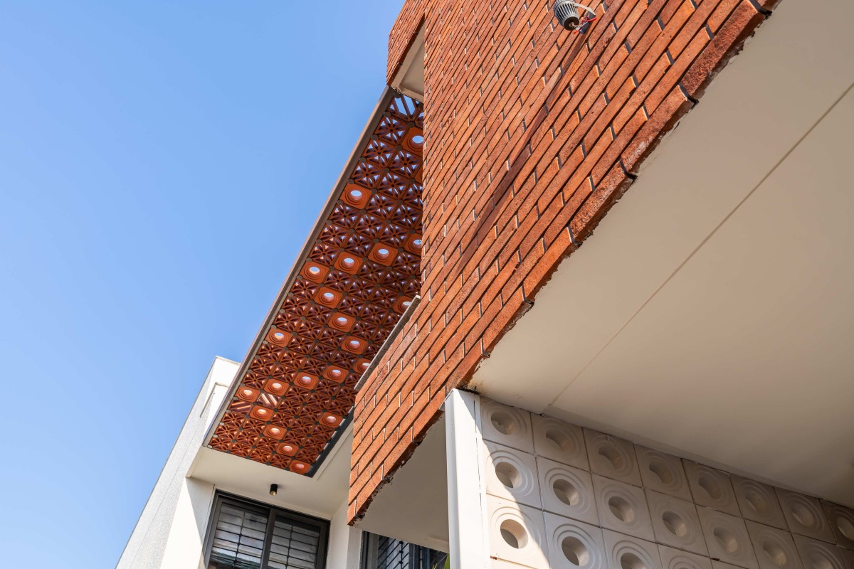
<path id="1" fill-rule="evenodd" d="M 616 0 L 579 35 L 551 2 L 407 0 L 389 70 L 423 9 L 424 299 L 357 398 L 351 520 L 774 3 Z"/>

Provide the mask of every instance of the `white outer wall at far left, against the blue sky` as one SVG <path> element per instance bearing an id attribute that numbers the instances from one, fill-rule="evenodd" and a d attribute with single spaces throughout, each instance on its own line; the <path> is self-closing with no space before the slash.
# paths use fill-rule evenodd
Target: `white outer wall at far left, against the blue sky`
<path id="1" fill-rule="evenodd" d="M 190 415 L 139 516 L 118 569 L 196 569 L 213 502 L 213 485 L 186 474 L 210 422 L 228 392 L 238 364 L 217 357 L 208 371 Z"/>

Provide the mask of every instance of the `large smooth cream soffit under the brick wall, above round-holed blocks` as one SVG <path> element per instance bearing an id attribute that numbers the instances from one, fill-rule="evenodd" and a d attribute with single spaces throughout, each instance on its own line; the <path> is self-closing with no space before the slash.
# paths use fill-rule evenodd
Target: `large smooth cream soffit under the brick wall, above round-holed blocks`
<path id="1" fill-rule="evenodd" d="M 474 385 L 854 505 L 851 20 L 781 3 Z"/>

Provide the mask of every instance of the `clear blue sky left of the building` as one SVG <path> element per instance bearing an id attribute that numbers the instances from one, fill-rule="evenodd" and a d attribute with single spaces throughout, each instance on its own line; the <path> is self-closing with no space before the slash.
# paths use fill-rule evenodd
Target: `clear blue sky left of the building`
<path id="1" fill-rule="evenodd" d="M 401 5 L 0 0 L 0 566 L 114 566 L 381 95 Z"/>

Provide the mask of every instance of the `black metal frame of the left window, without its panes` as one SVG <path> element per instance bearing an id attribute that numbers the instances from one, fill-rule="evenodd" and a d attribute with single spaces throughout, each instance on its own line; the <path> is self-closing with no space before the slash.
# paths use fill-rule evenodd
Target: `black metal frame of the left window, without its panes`
<path id="1" fill-rule="evenodd" d="M 213 537 L 216 534 L 217 520 L 223 504 L 231 504 L 237 508 L 246 508 L 253 511 L 255 514 L 264 515 L 267 517 L 266 534 L 264 536 L 264 549 L 261 552 L 260 569 L 267 569 L 270 561 L 270 547 L 272 544 L 273 530 L 277 518 L 284 518 L 295 525 L 302 525 L 319 532 L 318 540 L 318 562 L 316 569 L 326 569 L 326 557 L 329 554 L 329 525 L 330 520 L 317 518 L 315 516 L 300 514 L 293 510 L 278 508 L 264 502 L 256 502 L 236 496 L 227 492 L 217 491 L 213 496 L 213 507 L 211 508 L 210 516 L 208 517 L 208 531 L 205 535 L 205 556 L 204 566 L 207 568 L 210 563 L 211 551 L 213 550 Z"/>

